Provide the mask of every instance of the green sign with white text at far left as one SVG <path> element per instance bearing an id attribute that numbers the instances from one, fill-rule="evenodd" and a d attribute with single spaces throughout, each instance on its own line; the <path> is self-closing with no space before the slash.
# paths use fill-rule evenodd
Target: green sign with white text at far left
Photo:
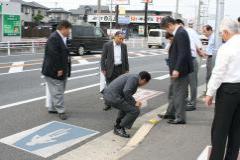
<path id="1" fill-rule="evenodd" d="M 3 35 L 4 36 L 21 35 L 20 15 L 3 15 Z"/>

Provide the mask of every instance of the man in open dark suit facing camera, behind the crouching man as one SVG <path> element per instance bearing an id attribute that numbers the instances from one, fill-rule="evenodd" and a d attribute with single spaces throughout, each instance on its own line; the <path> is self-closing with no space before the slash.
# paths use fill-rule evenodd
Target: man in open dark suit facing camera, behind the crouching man
<path id="1" fill-rule="evenodd" d="M 123 43 L 124 35 L 122 32 L 116 32 L 114 40 L 107 42 L 103 46 L 101 58 L 101 70 L 106 77 L 109 85 L 118 76 L 129 72 L 127 45 Z M 105 111 L 111 107 L 106 106 Z"/>

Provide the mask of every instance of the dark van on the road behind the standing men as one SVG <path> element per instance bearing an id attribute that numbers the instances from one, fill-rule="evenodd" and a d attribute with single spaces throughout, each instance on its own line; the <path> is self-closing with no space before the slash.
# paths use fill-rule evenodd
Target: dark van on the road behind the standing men
<path id="1" fill-rule="evenodd" d="M 90 24 L 73 25 L 68 47 L 72 52 L 83 56 L 88 52 L 101 52 L 104 43 L 109 40 L 101 28 Z"/>

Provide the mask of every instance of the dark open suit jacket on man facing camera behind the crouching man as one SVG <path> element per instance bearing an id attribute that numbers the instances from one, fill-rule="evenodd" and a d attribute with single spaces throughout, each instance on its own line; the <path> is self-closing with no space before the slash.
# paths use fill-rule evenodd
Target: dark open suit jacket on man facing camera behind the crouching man
<path id="1" fill-rule="evenodd" d="M 122 71 L 129 71 L 128 53 L 126 44 L 121 44 L 122 51 Z M 113 41 L 107 42 L 103 46 L 101 58 L 101 69 L 106 71 L 106 77 L 110 78 L 114 69 L 114 44 Z"/>

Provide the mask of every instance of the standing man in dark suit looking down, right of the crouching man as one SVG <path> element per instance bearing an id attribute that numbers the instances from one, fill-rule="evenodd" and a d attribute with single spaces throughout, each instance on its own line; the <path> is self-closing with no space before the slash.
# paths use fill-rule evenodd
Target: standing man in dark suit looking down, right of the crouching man
<path id="1" fill-rule="evenodd" d="M 170 17 L 164 17 L 161 26 L 174 35 L 169 50 L 169 69 L 171 75 L 172 98 L 165 115 L 161 118 L 170 119 L 170 124 L 186 123 L 186 98 L 188 75 L 193 72 L 190 40 L 187 31 Z"/>

